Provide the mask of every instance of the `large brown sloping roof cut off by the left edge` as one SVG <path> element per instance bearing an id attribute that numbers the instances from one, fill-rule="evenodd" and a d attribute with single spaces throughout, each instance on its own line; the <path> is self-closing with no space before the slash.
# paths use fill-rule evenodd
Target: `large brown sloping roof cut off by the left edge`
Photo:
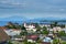
<path id="1" fill-rule="evenodd" d="M 8 34 L 2 30 L 0 29 L 0 44 L 4 44 L 9 41 L 9 36 Z"/>

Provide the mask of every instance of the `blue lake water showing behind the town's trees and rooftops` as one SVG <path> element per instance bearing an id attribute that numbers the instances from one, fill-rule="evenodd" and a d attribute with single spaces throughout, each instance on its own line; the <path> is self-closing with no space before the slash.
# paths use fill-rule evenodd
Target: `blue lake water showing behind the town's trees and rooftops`
<path id="1" fill-rule="evenodd" d="M 12 21 L 12 23 L 19 23 L 22 24 L 24 22 L 22 21 Z M 28 22 L 29 23 L 29 22 Z M 43 23 L 43 24 L 51 24 L 51 22 L 38 22 L 38 23 Z M 8 21 L 0 21 L 0 26 L 7 25 Z M 58 22 L 58 24 L 66 24 L 66 22 Z"/>

